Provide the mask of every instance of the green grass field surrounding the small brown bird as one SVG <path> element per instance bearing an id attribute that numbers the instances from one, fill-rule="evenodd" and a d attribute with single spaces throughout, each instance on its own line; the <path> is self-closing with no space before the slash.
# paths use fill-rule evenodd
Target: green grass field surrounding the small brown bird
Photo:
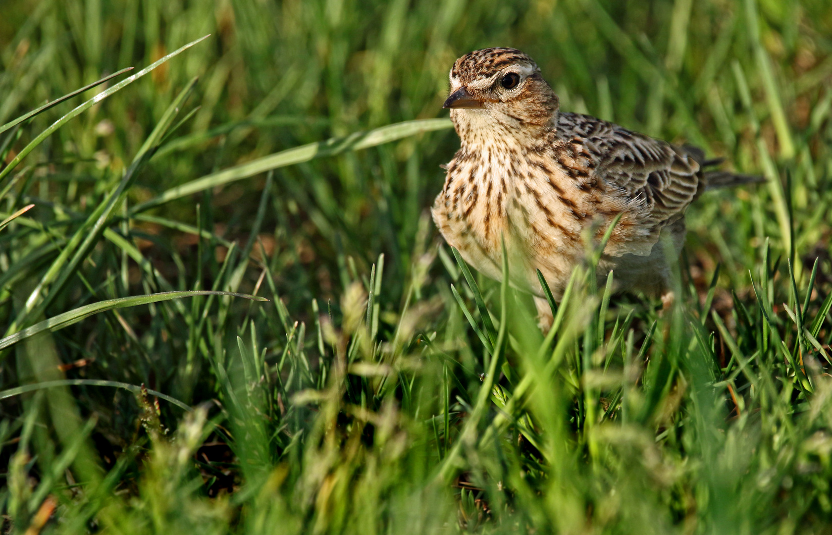
<path id="1" fill-rule="evenodd" d="M 827 533 L 830 36 L 820 0 L 7 0 L 2 529 Z M 443 245 L 448 68 L 495 45 L 768 179 L 691 207 L 665 314 L 590 261 L 544 335 Z"/>

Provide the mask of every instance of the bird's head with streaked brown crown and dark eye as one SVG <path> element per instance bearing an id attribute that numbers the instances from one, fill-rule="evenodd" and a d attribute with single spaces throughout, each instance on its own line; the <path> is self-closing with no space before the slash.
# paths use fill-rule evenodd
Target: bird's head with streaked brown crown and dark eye
<path id="1" fill-rule="evenodd" d="M 443 107 L 463 141 L 535 135 L 557 121 L 557 96 L 537 64 L 514 48 L 484 48 L 453 63 Z"/>

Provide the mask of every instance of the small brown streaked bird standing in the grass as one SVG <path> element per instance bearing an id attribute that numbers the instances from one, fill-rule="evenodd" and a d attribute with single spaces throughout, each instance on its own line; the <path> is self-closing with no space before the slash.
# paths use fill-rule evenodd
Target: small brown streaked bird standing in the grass
<path id="1" fill-rule="evenodd" d="M 540 270 L 560 301 L 572 271 L 617 224 L 597 263 L 617 292 L 673 302 L 671 263 L 685 212 L 709 186 L 755 177 L 706 171 L 694 146 L 675 146 L 593 116 L 560 110 L 531 57 L 515 48 L 468 52 L 453 63 L 450 109 L 459 150 L 446 165 L 433 221 L 469 265 L 534 296 L 543 328 L 552 312 Z"/>

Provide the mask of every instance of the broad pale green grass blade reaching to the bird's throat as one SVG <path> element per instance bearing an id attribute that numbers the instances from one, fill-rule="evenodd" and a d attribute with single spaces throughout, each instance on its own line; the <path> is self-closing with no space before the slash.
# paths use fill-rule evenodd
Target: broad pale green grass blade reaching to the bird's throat
<path id="1" fill-rule="evenodd" d="M 295 148 L 276 152 L 269 156 L 263 156 L 262 158 L 248 161 L 239 166 L 229 167 L 228 169 L 197 178 L 194 181 L 186 182 L 181 186 L 173 187 L 155 199 L 134 206 L 131 214 L 145 211 L 152 206 L 158 206 L 199 191 L 209 190 L 217 186 L 225 186 L 231 182 L 250 178 L 251 176 L 259 175 L 272 169 L 294 166 L 295 164 L 322 156 L 334 156 L 344 151 L 360 151 L 361 149 L 382 145 L 404 137 L 415 136 L 423 132 L 445 130 L 451 126 L 453 125 L 449 119 L 418 119 L 416 121 L 404 121 L 394 125 L 382 126 L 371 131 L 355 132 L 346 137 L 334 137 L 327 141 L 296 146 Z"/>

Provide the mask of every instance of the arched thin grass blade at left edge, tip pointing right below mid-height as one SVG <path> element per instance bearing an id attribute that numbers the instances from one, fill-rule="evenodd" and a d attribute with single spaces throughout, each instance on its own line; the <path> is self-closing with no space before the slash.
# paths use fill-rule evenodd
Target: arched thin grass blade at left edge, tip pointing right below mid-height
<path id="1" fill-rule="evenodd" d="M 15 334 L 11 334 L 3 339 L 0 339 L 0 349 L 5 349 L 12 344 L 17 344 L 17 342 L 21 341 L 22 339 L 27 339 L 30 336 L 42 333 L 45 330 L 56 331 L 58 329 L 63 329 L 64 327 L 76 324 L 77 322 L 84 320 L 89 316 L 96 315 L 100 312 L 106 312 L 107 310 L 123 309 L 128 306 L 147 305 L 149 303 L 157 303 L 159 301 L 180 299 L 182 297 L 191 297 L 193 295 L 230 295 L 233 297 L 242 297 L 244 299 L 250 299 L 255 301 L 268 301 L 267 299 L 265 299 L 265 297 L 258 297 L 256 295 L 237 294 L 234 292 L 220 292 L 211 290 L 182 290 L 172 292 L 161 292 L 159 294 L 120 297 L 118 299 L 98 301 L 97 303 L 91 303 L 90 305 L 80 306 L 77 309 L 69 310 L 68 312 L 64 312 L 57 316 L 53 316 L 48 320 L 40 321 L 37 324 L 32 325 L 31 327 L 27 327 L 26 329 L 22 329 Z"/>

